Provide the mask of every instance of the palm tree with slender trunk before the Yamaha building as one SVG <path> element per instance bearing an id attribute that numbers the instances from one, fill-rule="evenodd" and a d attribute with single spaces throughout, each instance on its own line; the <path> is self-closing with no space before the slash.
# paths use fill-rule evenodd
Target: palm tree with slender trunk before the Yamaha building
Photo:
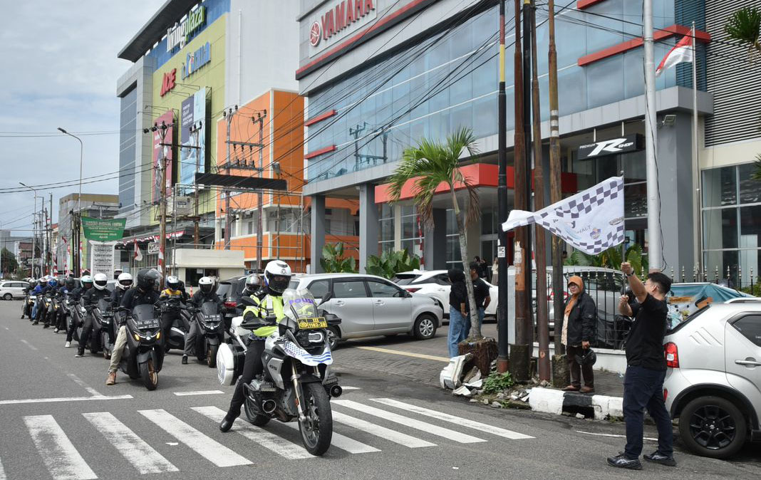
<path id="1" fill-rule="evenodd" d="M 396 202 L 402 195 L 402 188 L 408 180 L 412 180 L 412 195 L 418 208 L 422 221 L 433 225 L 433 198 L 438 186 L 445 183 L 452 195 L 452 207 L 454 217 L 457 219 L 457 231 L 460 237 L 460 253 L 463 259 L 463 271 L 465 272 L 465 285 L 468 290 L 470 301 L 469 339 L 482 339 L 481 328 L 478 324 L 478 312 L 476 299 L 473 295 L 473 280 L 470 278 L 470 265 L 468 264 L 468 245 L 465 237 L 465 225 L 475 221 L 480 215 L 478 195 L 476 189 L 470 185 L 468 179 L 460 171 L 460 154 L 466 150 L 470 156 L 478 154 L 476 137 L 473 131 L 466 128 L 457 129 L 449 135 L 446 141 L 430 141 L 422 138 L 416 147 L 406 148 L 402 155 L 399 167 L 396 167 L 389 180 L 390 199 Z M 464 186 L 468 199 L 466 214 L 460 210 L 460 202 L 457 201 L 455 188 Z"/>

